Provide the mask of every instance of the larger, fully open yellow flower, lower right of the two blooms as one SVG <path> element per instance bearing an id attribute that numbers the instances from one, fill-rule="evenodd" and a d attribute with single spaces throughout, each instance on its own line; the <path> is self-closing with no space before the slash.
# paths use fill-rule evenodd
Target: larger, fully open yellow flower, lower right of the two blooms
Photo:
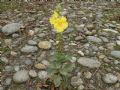
<path id="1" fill-rule="evenodd" d="M 66 17 L 62 16 L 55 20 L 54 29 L 60 33 L 63 32 L 68 27 L 68 22 Z"/>

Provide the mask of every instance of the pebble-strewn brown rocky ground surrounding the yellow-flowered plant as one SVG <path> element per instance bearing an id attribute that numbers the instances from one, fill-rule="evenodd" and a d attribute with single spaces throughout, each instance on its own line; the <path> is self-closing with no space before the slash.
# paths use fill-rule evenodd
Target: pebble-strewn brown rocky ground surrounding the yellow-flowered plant
<path id="1" fill-rule="evenodd" d="M 56 34 L 48 20 L 57 3 L 0 4 L 0 90 L 49 90 Z M 62 6 L 73 90 L 120 90 L 120 6 L 99 0 Z"/>

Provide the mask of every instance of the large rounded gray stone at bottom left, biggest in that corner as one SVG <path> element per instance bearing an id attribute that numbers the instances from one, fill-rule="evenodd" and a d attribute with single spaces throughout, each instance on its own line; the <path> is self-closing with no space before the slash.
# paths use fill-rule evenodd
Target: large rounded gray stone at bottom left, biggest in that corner
<path id="1" fill-rule="evenodd" d="M 13 81 L 16 83 L 23 83 L 23 82 L 26 82 L 27 80 L 29 80 L 29 74 L 27 70 L 17 71 L 13 75 Z"/>

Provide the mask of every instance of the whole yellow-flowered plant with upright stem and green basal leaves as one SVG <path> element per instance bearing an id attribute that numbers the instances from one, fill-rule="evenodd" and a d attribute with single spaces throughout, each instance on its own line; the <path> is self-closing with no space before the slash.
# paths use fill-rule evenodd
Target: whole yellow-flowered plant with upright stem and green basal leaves
<path id="1" fill-rule="evenodd" d="M 50 61 L 48 74 L 50 80 L 53 82 L 55 88 L 59 90 L 67 90 L 70 86 L 70 76 L 73 70 L 73 65 L 70 64 L 70 56 L 63 53 L 63 32 L 68 28 L 68 20 L 65 16 L 61 15 L 62 8 L 60 5 L 53 11 L 53 15 L 49 21 L 53 28 L 56 30 L 56 53 Z M 69 89 L 70 90 L 70 89 Z"/>

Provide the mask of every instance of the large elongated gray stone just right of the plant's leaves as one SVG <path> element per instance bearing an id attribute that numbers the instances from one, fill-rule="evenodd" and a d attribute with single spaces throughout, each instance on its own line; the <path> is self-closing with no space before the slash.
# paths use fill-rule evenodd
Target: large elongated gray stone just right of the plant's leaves
<path id="1" fill-rule="evenodd" d="M 86 58 L 86 57 L 79 58 L 78 63 L 88 68 L 98 68 L 101 65 L 101 63 L 98 60 Z"/>

